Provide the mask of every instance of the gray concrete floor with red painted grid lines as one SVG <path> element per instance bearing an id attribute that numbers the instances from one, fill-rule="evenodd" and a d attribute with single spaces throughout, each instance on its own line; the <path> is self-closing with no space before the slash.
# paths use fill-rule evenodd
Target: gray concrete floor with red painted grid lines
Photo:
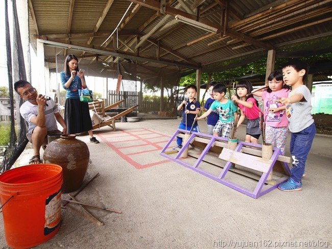
<path id="1" fill-rule="evenodd" d="M 159 148 L 133 146 L 128 139 L 135 137 L 135 132 L 146 132 L 143 140 L 161 141 L 159 145 L 163 146 L 179 122 L 179 118 L 117 122 L 116 132 L 102 128 L 94 133 L 100 144 L 89 143 L 88 136 L 79 136 L 90 150 L 86 179 L 98 172 L 100 176 L 77 198 L 121 210 L 122 214 L 90 209 L 104 222 L 99 227 L 73 210 L 63 209 L 59 232 L 37 248 L 331 246 L 332 137 L 315 137 L 302 191 L 275 189 L 254 200 L 173 161 L 165 161 L 159 156 Z M 206 132 L 205 121 L 199 121 L 199 127 Z M 245 127 L 241 126 L 237 134 L 243 140 Z M 139 154 L 143 149 L 148 153 Z M 29 157 L 31 151 L 26 150 L 20 164 L 26 164 Z M 0 234 L 3 233 L 1 226 Z M 8 248 L 4 236 L 0 236 L 0 248 Z"/>

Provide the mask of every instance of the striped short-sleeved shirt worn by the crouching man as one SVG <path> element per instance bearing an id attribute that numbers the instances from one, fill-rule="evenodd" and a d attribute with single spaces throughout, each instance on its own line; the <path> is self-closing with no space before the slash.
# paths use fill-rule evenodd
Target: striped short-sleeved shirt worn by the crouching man
<path id="1" fill-rule="evenodd" d="M 46 102 L 48 106 L 45 106 L 45 126 L 48 131 L 58 130 L 57 120 L 55 119 L 54 113 L 58 113 L 58 105 L 55 104 L 53 99 Z M 26 101 L 19 108 L 21 116 L 28 122 L 28 133 L 36 128 L 36 124 L 30 122 L 31 118 L 38 115 L 38 105 L 31 104 Z"/>

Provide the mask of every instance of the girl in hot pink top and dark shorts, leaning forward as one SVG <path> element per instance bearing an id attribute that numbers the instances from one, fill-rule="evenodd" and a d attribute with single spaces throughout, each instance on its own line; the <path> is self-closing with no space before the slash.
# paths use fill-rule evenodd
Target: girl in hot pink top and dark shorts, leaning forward
<path id="1" fill-rule="evenodd" d="M 231 99 L 241 110 L 238 127 L 244 121 L 245 117 L 248 118 L 246 142 L 258 143 L 260 136 L 259 113 L 262 113 L 262 111 L 258 108 L 258 102 L 254 99 L 251 91 L 251 82 L 241 80 L 236 84 L 236 95 L 232 95 Z"/>

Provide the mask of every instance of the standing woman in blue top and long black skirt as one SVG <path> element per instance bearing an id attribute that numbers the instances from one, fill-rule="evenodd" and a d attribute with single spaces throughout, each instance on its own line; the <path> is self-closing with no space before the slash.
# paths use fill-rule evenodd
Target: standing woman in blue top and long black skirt
<path id="1" fill-rule="evenodd" d="M 88 132 L 91 143 L 99 143 L 93 137 L 92 123 L 88 103 L 80 101 L 79 89 L 86 88 L 84 71 L 79 71 L 78 59 L 75 55 L 67 55 L 64 60 L 64 71 L 60 72 L 63 88 L 66 90 L 64 121 L 68 134 Z"/>

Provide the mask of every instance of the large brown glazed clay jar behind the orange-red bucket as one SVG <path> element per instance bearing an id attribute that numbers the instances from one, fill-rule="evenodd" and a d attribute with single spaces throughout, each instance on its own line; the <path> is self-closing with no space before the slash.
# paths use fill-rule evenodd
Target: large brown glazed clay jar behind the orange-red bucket
<path id="1" fill-rule="evenodd" d="M 85 142 L 75 135 L 64 134 L 45 148 L 44 163 L 60 165 L 63 170 L 62 192 L 73 192 L 82 185 L 90 152 Z"/>

